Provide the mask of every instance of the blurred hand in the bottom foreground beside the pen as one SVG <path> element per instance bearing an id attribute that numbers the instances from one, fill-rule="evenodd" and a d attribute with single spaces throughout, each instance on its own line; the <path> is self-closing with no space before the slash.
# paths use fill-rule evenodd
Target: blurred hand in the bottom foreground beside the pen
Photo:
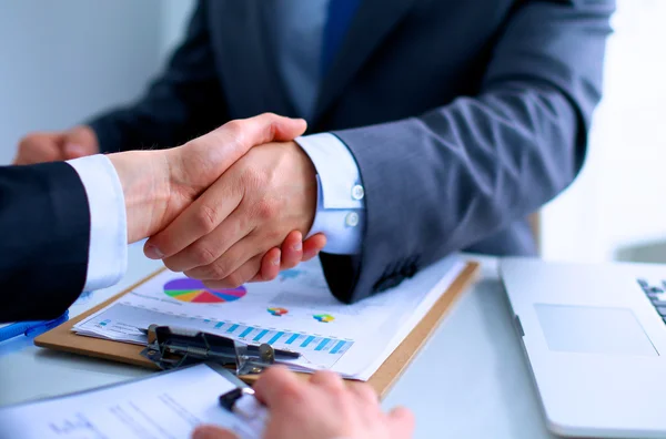
<path id="1" fill-rule="evenodd" d="M 254 390 L 270 412 L 264 439 L 406 439 L 414 430 L 407 409 L 385 415 L 369 385 L 345 385 L 333 372 L 319 371 L 306 382 L 274 367 L 262 374 Z M 235 435 L 205 426 L 193 438 L 233 439 Z"/>

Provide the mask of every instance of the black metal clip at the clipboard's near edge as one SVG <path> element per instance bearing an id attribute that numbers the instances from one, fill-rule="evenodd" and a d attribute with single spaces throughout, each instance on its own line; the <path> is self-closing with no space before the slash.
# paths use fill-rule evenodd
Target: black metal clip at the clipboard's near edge
<path id="1" fill-rule="evenodd" d="M 196 329 L 150 325 L 148 346 L 141 355 L 160 369 L 169 370 L 196 363 L 213 361 L 235 369 L 235 375 L 260 374 L 279 359 L 295 359 L 300 354 L 273 349 L 271 345 L 248 345 Z"/>

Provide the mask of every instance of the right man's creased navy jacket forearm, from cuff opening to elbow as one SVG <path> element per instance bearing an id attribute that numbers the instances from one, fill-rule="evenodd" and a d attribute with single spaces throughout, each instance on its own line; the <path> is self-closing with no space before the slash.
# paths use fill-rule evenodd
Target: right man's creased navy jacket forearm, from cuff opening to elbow
<path id="1" fill-rule="evenodd" d="M 336 132 L 361 170 L 366 224 L 360 257 L 322 256 L 333 293 L 350 302 L 390 288 L 526 217 L 575 177 L 585 151 L 577 131 L 562 93 L 512 83 L 421 118 Z"/>

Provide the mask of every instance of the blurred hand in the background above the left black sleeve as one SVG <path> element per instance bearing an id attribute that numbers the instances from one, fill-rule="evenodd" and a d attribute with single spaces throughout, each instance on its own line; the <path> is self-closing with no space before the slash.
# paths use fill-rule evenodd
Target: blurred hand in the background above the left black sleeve
<path id="1" fill-rule="evenodd" d="M 31 133 L 21 140 L 13 164 L 33 164 L 79 159 L 100 152 L 94 131 L 74 126 L 68 131 Z"/>

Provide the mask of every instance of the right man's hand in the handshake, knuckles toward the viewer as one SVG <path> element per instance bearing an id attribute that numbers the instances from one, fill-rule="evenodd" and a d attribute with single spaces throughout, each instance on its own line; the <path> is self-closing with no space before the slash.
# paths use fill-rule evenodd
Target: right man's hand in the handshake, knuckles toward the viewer
<path id="1" fill-rule="evenodd" d="M 291 231 L 310 231 L 316 192 L 314 165 L 295 142 L 253 147 L 151 237 L 145 254 L 210 287 L 265 279 L 263 255 Z"/>

